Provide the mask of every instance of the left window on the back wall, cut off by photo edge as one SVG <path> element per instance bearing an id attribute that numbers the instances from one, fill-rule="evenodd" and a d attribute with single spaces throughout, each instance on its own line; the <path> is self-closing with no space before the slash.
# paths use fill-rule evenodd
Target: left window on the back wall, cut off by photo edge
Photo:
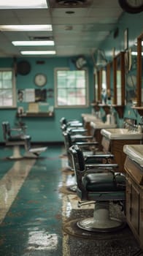
<path id="1" fill-rule="evenodd" d="M 12 69 L 0 69 L 0 108 L 14 108 L 15 79 Z"/>

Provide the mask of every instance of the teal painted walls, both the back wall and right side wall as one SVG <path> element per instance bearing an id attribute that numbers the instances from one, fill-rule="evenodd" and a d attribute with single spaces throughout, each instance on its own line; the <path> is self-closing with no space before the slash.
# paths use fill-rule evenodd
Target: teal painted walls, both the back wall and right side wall
<path id="1" fill-rule="evenodd" d="M 109 37 L 101 45 L 108 61 L 112 61 L 112 48 L 115 48 L 115 53 L 124 50 L 124 31 L 128 28 L 128 48 L 134 45 L 134 41 L 139 34 L 143 33 L 142 27 L 143 12 L 137 15 L 123 13 L 118 20 L 116 28 L 119 29 L 118 36 L 113 37 L 114 31 L 111 31 Z M 115 29 L 116 29 L 115 28 Z M 95 34 L 96 37 L 96 34 Z M 17 59 L 21 61 L 23 59 Z M 31 64 L 31 72 L 28 75 L 17 75 L 16 87 L 17 89 L 37 89 L 34 85 L 34 76 L 39 73 L 47 75 L 47 84 L 45 89 L 54 89 L 54 68 L 55 67 L 70 67 L 70 58 L 24 58 Z M 36 64 L 36 61 L 45 61 L 45 64 Z M 0 67 L 13 67 L 14 61 L 11 58 L 0 59 Z M 88 77 L 89 77 L 89 102 L 93 102 L 95 98 L 93 95 L 93 61 L 90 57 L 88 59 Z M 54 105 L 54 98 L 47 99 L 50 105 Z M 18 104 L 19 105 L 19 104 Z M 26 103 L 23 107 L 27 108 Z M 17 109 L 0 109 L 0 122 L 8 120 L 10 124 L 14 125 L 18 121 L 16 118 Z M 28 134 L 32 136 L 34 142 L 53 142 L 63 140 L 61 129 L 59 125 L 60 118 L 65 116 L 68 119 L 81 118 L 82 113 L 91 113 L 90 105 L 88 108 L 55 108 L 55 116 L 53 118 L 23 118 L 28 126 Z M 137 123 L 140 121 L 139 114 L 131 109 L 131 105 L 125 106 L 123 118 L 135 118 Z M 82 120 L 82 119 L 81 119 Z M 123 125 L 123 119 L 117 116 L 117 126 Z M 0 130 L 0 141 L 3 141 L 2 130 Z"/>

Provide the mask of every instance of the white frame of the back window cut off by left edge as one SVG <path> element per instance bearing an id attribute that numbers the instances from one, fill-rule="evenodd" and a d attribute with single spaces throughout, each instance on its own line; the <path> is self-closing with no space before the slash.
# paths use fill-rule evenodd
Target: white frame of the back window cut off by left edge
<path id="1" fill-rule="evenodd" d="M 16 108 L 16 81 L 15 81 L 15 72 L 12 68 L 0 68 L 0 72 L 11 71 L 12 72 L 12 105 L 0 105 L 1 108 Z M 1 91 L 1 89 L 0 89 Z"/>

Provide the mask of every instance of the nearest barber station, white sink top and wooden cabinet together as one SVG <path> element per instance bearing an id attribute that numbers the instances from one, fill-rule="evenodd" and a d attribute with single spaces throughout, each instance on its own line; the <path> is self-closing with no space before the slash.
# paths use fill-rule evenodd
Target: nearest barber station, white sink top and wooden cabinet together
<path id="1" fill-rule="evenodd" d="M 143 249 L 143 145 L 125 145 L 126 219 Z"/>

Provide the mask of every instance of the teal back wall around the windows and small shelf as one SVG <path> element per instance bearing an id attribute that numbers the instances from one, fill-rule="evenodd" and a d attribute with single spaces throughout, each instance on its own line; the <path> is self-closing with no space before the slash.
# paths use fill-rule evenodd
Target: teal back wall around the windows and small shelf
<path id="1" fill-rule="evenodd" d="M 44 73 L 47 75 L 47 84 L 42 89 L 54 89 L 54 69 L 55 67 L 71 67 L 70 58 L 24 58 L 17 59 L 17 62 L 21 60 L 27 60 L 31 64 L 31 72 L 28 75 L 16 76 L 16 88 L 18 89 L 39 89 L 34 84 L 34 77 L 37 73 Z M 44 64 L 36 64 L 36 61 L 44 61 Z M 13 67 L 13 59 L 0 59 L 0 67 Z M 89 102 L 93 101 L 93 67 L 88 61 L 88 80 L 89 80 Z M 49 105 L 55 105 L 54 97 L 47 98 Z M 18 106 L 23 106 L 24 110 L 28 109 L 28 104 L 26 102 L 18 102 Z M 88 108 L 55 108 L 54 117 L 46 118 L 22 118 L 28 127 L 27 133 L 31 135 L 33 142 L 55 142 L 62 141 L 61 129 L 59 121 L 62 116 L 67 119 L 78 118 L 82 121 L 82 113 L 91 113 L 90 105 Z M 0 123 L 2 121 L 9 121 L 9 123 L 14 126 L 18 122 L 16 117 L 16 109 L 0 109 Z M 0 141 L 3 140 L 2 129 L 0 130 Z"/>

